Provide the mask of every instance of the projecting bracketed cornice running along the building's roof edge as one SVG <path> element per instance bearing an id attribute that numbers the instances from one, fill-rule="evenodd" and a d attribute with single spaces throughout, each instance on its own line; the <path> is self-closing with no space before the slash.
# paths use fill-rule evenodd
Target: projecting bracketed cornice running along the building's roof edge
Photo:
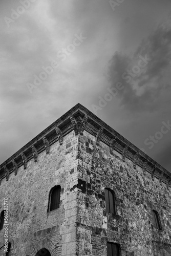
<path id="1" fill-rule="evenodd" d="M 164 182 L 167 187 L 171 185 L 171 174 L 168 170 L 79 103 L 2 163 L 0 165 L 0 180 L 5 177 L 8 180 L 12 172 L 15 172 L 16 175 L 17 169 L 22 165 L 26 169 L 28 161 L 32 158 L 34 158 L 36 164 L 38 154 L 42 151 L 46 151 L 48 154 L 53 143 L 59 140 L 61 145 L 63 137 L 73 130 L 75 135 L 82 135 L 83 130 L 86 130 L 96 137 L 97 146 L 102 141 L 109 145 L 111 154 L 113 154 L 114 150 L 119 152 L 123 162 L 126 158 L 130 159 L 133 162 L 134 169 L 138 165 L 142 167 L 144 175 L 146 172 L 151 174 L 152 180 L 156 177 L 159 179 L 160 184 Z"/>

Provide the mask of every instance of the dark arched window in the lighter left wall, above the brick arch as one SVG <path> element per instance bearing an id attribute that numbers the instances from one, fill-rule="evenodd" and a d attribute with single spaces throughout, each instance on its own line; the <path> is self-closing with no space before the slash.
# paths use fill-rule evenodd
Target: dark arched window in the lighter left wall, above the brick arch
<path id="1" fill-rule="evenodd" d="M 59 208 L 60 202 L 60 186 L 55 186 L 51 189 L 49 194 L 49 207 L 48 211 Z"/>

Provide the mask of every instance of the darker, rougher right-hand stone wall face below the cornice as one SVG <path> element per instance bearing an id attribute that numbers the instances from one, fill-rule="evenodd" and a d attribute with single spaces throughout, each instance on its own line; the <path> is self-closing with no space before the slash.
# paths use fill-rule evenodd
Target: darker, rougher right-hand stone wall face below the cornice
<path id="1" fill-rule="evenodd" d="M 88 132 L 79 151 L 77 255 L 106 255 L 107 241 L 120 245 L 121 256 L 171 255 L 170 188 Z M 115 192 L 115 216 L 105 210 L 105 187 Z M 162 230 L 153 226 L 153 209 Z"/>

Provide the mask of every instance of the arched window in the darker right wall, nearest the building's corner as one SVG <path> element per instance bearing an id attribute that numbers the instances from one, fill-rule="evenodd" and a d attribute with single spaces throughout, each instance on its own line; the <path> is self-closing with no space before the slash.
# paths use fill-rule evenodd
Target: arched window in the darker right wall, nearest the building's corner
<path id="1" fill-rule="evenodd" d="M 111 214 L 116 215 L 114 191 L 112 191 L 110 188 L 105 188 L 104 195 L 105 195 L 106 211 L 111 212 Z"/>

